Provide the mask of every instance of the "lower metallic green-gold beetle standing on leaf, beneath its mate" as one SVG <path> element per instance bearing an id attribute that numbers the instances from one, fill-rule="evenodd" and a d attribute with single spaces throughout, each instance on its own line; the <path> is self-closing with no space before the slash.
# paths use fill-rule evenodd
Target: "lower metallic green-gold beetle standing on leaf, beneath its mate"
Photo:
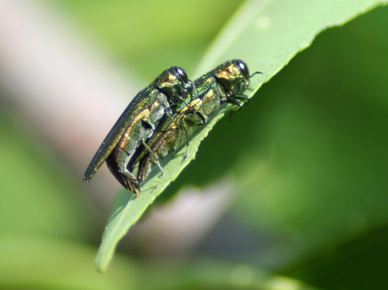
<path id="1" fill-rule="evenodd" d="M 222 103 L 232 103 L 239 106 L 240 110 L 243 102 L 249 101 L 249 96 L 242 93 L 248 87 L 250 77 L 244 61 L 230 60 L 195 80 L 196 94 L 192 95 L 190 102 L 182 105 L 172 118 L 163 118 L 153 136 L 140 145 L 130 159 L 127 165 L 130 172 L 133 172 L 139 163 L 135 186 L 147 178 L 154 164 L 158 165 L 162 176 L 163 168 L 159 160 L 178 149 L 184 142 L 188 146 L 189 136 L 205 124 Z M 182 162 L 187 158 L 187 154 L 186 147 Z"/>

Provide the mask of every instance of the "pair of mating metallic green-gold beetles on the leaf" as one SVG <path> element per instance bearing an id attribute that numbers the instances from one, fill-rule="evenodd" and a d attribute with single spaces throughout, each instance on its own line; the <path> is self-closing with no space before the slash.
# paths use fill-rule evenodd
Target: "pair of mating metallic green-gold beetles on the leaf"
<path id="1" fill-rule="evenodd" d="M 168 68 L 128 105 L 97 150 L 83 180 L 90 181 L 106 161 L 114 177 L 139 195 L 139 182 L 147 178 L 152 166 L 158 165 L 163 175 L 159 159 L 184 142 L 188 145 L 189 136 L 205 124 L 222 103 L 241 108 L 242 101 L 249 100 L 242 93 L 250 77 L 242 60 L 227 61 L 194 82 L 188 80 L 182 68 Z M 182 161 L 186 158 L 187 149 Z M 138 163 L 135 177 L 132 172 Z"/>

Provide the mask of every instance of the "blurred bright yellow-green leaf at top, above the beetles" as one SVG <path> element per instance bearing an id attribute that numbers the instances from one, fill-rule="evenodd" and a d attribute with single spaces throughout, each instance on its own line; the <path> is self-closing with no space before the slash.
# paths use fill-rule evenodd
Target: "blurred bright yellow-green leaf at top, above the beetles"
<path id="1" fill-rule="evenodd" d="M 57 0 L 143 77 L 180 65 L 189 76 L 242 0 Z"/>

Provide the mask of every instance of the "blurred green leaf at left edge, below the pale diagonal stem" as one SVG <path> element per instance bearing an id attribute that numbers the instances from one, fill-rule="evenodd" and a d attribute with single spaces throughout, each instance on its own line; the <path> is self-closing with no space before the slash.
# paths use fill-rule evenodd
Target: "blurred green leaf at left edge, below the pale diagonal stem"
<path id="1" fill-rule="evenodd" d="M 4 109 L 0 116 L 1 235 L 90 240 L 96 213 L 74 176 L 31 126 Z"/>

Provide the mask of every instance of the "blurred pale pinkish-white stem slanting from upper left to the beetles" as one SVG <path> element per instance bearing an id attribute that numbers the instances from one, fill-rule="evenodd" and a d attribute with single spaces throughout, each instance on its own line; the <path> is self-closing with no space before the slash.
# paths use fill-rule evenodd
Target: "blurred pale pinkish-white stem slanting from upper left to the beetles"
<path id="1" fill-rule="evenodd" d="M 137 92 L 109 56 L 96 50 L 100 46 L 85 39 L 44 3 L 0 2 L 0 86 L 17 103 L 17 115 L 66 158 L 80 180 Z M 106 168 L 101 171 L 94 189 L 116 192 L 116 182 Z"/>

